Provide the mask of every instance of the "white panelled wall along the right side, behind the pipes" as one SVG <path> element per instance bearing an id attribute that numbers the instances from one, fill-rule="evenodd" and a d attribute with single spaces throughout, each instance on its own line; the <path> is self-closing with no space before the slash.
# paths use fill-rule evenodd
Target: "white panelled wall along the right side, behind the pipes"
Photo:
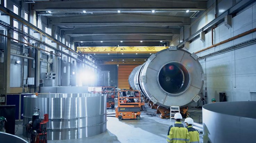
<path id="1" fill-rule="evenodd" d="M 237 0 L 238 2 L 239 0 Z M 209 0 L 208 3 L 213 3 Z M 222 3 L 222 4 L 221 4 Z M 232 6 L 232 1 L 222 0 L 219 3 L 219 12 Z M 210 21 L 210 10 L 207 14 L 207 20 Z M 191 33 L 206 24 L 205 19 L 201 18 L 196 24 L 192 25 Z M 204 26 L 204 25 L 203 25 Z M 247 8 L 238 12 L 232 18 L 232 27 L 227 28 L 224 23 L 220 24 L 214 30 L 214 44 L 239 35 L 250 29 L 256 28 L 256 2 Z M 200 28 L 199 28 L 200 29 Z M 212 45 L 211 31 L 205 34 L 205 42 L 199 38 L 190 43 L 189 52 L 197 52 Z M 209 50 L 197 53 L 199 56 L 213 53 L 223 48 L 238 44 L 249 39 L 256 38 L 256 33 L 248 34 L 234 41 L 230 41 L 220 46 L 210 48 Z M 205 73 L 207 81 L 204 83 L 203 92 L 207 87 L 207 102 L 212 98 L 219 101 L 219 92 L 225 92 L 228 101 L 248 101 L 251 100 L 250 91 L 256 91 L 256 44 L 247 45 L 236 50 L 224 52 L 205 59 L 199 60 Z"/>

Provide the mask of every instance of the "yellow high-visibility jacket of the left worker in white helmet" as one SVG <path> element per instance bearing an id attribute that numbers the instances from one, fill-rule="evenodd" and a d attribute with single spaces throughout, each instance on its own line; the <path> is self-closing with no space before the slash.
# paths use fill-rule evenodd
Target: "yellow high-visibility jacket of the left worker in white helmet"
<path id="1" fill-rule="evenodd" d="M 167 143 L 189 143 L 189 132 L 181 122 L 175 122 L 169 127 Z"/>

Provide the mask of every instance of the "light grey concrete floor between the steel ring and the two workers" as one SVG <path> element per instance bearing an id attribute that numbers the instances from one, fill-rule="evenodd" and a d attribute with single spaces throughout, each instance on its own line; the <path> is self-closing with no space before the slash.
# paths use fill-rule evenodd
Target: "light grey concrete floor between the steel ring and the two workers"
<path id="1" fill-rule="evenodd" d="M 107 117 L 107 131 L 92 137 L 79 138 L 74 140 L 62 140 L 62 141 L 48 141 L 48 143 L 131 143 L 131 142 L 166 142 L 166 136 L 168 128 L 174 123 L 174 120 L 161 119 L 159 114 L 153 117 L 155 109 L 151 109 L 146 105 L 146 112 L 142 112 L 141 120 L 136 119 L 123 119 L 118 120 L 115 117 Z M 199 115 L 202 115 L 201 110 L 191 108 L 189 110 L 195 122 L 198 122 Z M 115 113 L 115 110 L 108 109 L 108 114 Z M 114 115 L 109 115 L 114 116 Z M 184 119 L 182 120 L 184 121 Z M 19 125 L 17 136 L 22 136 L 22 122 L 17 122 Z M 17 125 L 16 125 L 17 126 Z M 200 141 L 203 139 L 200 137 Z"/>

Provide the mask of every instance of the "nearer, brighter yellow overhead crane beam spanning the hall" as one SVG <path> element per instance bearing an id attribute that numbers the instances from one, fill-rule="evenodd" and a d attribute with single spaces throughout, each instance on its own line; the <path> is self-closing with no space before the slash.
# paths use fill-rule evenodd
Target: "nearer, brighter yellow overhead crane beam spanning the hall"
<path id="1" fill-rule="evenodd" d="M 157 53 L 158 51 L 164 50 L 168 48 L 167 46 L 102 46 L 102 47 L 77 47 L 77 52 L 81 52 L 83 54 L 149 54 L 149 53 Z"/>

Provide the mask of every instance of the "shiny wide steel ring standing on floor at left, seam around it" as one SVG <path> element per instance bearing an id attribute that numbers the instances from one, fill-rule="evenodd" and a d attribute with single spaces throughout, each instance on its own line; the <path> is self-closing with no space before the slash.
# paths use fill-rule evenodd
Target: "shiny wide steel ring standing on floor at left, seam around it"
<path id="1" fill-rule="evenodd" d="M 89 137 L 106 131 L 106 95 L 55 93 L 24 97 L 23 125 L 32 118 L 34 107 L 40 116 L 49 114 L 48 140 Z M 26 136 L 25 127 L 23 135 Z"/>

